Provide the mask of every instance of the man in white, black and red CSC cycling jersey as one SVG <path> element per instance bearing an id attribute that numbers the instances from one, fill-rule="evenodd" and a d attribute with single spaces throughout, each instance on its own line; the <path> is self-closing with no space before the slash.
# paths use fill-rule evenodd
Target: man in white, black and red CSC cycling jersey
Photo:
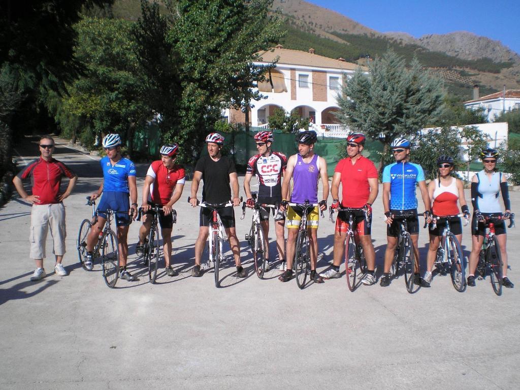
<path id="1" fill-rule="evenodd" d="M 249 159 L 244 178 L 245 196 L 248 198 L 246 205 L 254 206 L 253 197 L 251 196 L 251 178 L 256 175 L 258 179 L 258 199 L 257 202 L 264 204 L 280 205 L 282 201 L 281 177 L 287 166 L 287 157 L 280 152 L 271 150 L 272 141 L 274 140 L 271 132 L 261 131 L 254 136 L 256 149 L 255 154 Z M 265 259 L 266 270 L 269 269 L 269 213 L 264 210 L 260 211 L 260 219 L 262 220 L 262 228 L 264 230 L 265 239 Z M 284 271 L 287 267 L 285 263 L 285 238 L 283 235 L 283 226 L 285 216 L 283 212 L 279 212 L 275 216 L 276 231 L 276 248 L 278 250 L 278 258 L 280 260 L 280 270 Z"/>

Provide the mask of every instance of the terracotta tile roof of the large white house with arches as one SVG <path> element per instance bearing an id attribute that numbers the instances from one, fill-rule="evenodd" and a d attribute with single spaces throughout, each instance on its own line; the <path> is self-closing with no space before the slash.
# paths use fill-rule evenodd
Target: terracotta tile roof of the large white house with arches
<path id="1" fill-rule="evenodd" d="M 284 65 L 301 65 L 313 68 L 332 68 L 341 70 L 356 70 L 359 65 L 352 62 L 335 60 L 329 57 L 318 56 L 317 54 L 310 54 L 307 51 L 274 48 L 267 51 L 259 51 L 258 55 L 262 57 L 264 62 L 270 62 L 279 56 L 277 63 Z M 361 67 L 362 70 L 367 71 L 366 67 Z"/>

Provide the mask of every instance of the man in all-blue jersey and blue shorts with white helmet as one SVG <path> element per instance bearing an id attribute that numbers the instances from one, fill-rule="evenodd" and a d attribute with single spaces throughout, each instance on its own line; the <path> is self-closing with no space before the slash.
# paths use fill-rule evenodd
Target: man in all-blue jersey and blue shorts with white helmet
<path id="1" fill-rule="evenodd" d="M 122 279 L 128 281 L 135 278 L 126 270 L 126 257 L 128 255 L 128 244 L 126 237 L 128 227 L 132 223 L 131 218 L 137 216 L 137 185 L 135 179 L 134 163 L 121 155 L 121 138 L 119 134 L 108 134 L 102 141 L 103 148 L 107 152 L 106 157 L 100 161 L 103 170 L 103 180 L 97 192 L 90 197 L 97 199 L 103 193 L 97 209 L 106 211 L 111 209 L 118 212 L 115 214 L 115 224 L 119 240 L 119 266 Z M 129 199 L 132 201 L 130 204 Z M 133 213 L 133 214 L 132 214 Z M 131 217 L 132 216 L 132 217 Z M 94 244 L 98 240 L 99 233 L 103 230 L 107 214 L 98 213 L 98 222 L 90 230 L 87 237 L 87 254 L 85 256 L 85 267 L 92 269 Z"/>

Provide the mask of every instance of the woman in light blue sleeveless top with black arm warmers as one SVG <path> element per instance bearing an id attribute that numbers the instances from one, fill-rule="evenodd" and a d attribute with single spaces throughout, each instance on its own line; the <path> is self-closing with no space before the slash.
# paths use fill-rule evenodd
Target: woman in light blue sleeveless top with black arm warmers
<path id="1" fill-rule="evenodd" d="M 495 149 L 484 149 L 480 152 L 480 159 L 484 163 L 484 169 L 473 176 L 471 180 L 471 203 L 473 205 L 473 218 L 479 221 L 476 225 L 472 224 L 471 239 L 472 248 L 470 253 L 470 269 L 467 277 L 467 285 L 474 287 L 475 270 L 478 263 L 478 255 L 484 243 L 486 234 L 486 226 L 480 221 L 483 216 L 489 214 L 502 213 L 499 202 L 499 193 L 502 193 L 504 201 L 505 214 L 503 217 L 508 219 L 511 215 L 511 201 L 509 200 L 508 179 L 502 172 L 497 170 L 497 160 L 500 157 Z M 502 255 L 502 285 L 507 288 L 513 288 L 514 284 L 508 278 L 508 252 L 506 245 L 506 229 L 505 222 L 502 220 L 495 223 L 495 235 L 500 245 L 500 253 Z"/>

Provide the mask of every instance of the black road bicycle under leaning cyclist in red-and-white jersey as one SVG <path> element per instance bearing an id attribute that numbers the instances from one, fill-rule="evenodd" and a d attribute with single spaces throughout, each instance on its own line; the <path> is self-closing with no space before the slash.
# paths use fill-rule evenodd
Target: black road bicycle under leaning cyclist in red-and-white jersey
<path id="1" fill-rule="evenodd" d="M 164 212 L 159 205 L 153 205 L 148 211 L 152 215 L 152 223 L 148 237 L 145 239 L 142 248 L 143 263 L 148 266 L 148 280 L 154 284 L 157 278 L 157 267 L 159 264 L 159 254 L 161 253 L 160 239 L 159 239 L 159 216 Z M 142 214 L 146 214 L 142 207 L 139 207 L 137 213 L 137 220 L 141 220 Z M 172 210 L 173 223 L 177 222 L 177 212 Z"/>

